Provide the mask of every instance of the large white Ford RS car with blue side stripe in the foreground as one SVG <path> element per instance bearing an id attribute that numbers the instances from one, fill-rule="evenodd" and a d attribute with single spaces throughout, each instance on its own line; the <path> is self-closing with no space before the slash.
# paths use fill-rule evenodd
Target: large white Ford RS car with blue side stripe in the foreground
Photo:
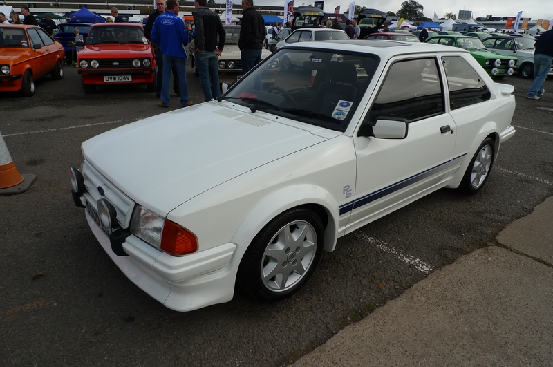
<path id="1" fill-rule="evenodd" d="M 301 63 L 264 82 L 284 58 Z M 476 193 L 515 133 L 512 91 L 460 48 L 301 42 L 217 101 L 84 142 L 73 200 L 168 308 L 279 301 L 339 237 L 443 187 Z"/>

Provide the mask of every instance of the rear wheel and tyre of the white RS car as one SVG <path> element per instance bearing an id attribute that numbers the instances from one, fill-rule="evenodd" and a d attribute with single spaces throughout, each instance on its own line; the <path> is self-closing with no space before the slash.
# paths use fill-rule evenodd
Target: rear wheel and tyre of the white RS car
<path id="1" fill-rule="evenodd" d="M 494 164 L 494 140 L 486 138 L 471 159 L 458 189 L 465 194 L 474 194 L 486 183 Z"/>

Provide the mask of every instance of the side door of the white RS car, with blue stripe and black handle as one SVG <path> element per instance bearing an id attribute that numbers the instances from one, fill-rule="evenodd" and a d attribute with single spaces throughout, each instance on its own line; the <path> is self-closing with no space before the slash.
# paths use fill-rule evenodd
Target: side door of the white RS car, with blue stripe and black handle
<path id="1" fill-rule="evenodd" d="M 404 139 L 354 135 L 357 180 L 346 232 L 411 203 L 449 176 L 456 126 L 444 101 L 435 56 L 397 59 L 388 66 L 363 124 L 401 120 L 408 132 Z"/>

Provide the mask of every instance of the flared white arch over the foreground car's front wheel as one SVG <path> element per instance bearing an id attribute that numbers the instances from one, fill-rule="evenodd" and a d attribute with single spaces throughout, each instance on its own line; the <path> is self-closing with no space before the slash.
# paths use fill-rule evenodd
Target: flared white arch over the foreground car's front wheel
<path id="1" fill-rule="evenodd" d="M 247 247 L 271 220 L 284 211 L 296 207 L 308 207 L 317 213 L 324 226 L 323 249 L 327 252 L 334 250 L 337 241 L 339 205 L 326 189 L 307 184 L 284 187 L 256 203 L 234 232 L 232 243 Z"/>

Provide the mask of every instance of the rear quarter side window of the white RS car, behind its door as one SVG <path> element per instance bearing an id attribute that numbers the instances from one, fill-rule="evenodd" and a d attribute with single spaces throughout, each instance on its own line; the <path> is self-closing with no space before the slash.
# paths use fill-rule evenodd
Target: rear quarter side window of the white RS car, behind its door
<path id="1" fill-rule="evenodd" d="M 452 110 L 489 100 L 491 93 L 478 73 L 460 56 L 442 57 Z"/>

